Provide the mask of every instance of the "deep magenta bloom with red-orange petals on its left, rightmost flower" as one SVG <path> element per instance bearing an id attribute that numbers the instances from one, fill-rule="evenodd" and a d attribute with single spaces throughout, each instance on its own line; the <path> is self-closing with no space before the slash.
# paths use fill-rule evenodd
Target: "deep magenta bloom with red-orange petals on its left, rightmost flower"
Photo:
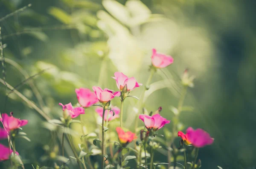
<path id="1" fill-rule="evenodd" d="M 183 132 L 178 132 L 178 136 L 180 136 L 182 140 L 186 140 L 186 142 L 198 148 L 211 145 L 214 140 L 210 137 L 209 133 L 205 132 L 203 129 L 194 130 L 192 127 L 186 129 L 185 137 Z"/>

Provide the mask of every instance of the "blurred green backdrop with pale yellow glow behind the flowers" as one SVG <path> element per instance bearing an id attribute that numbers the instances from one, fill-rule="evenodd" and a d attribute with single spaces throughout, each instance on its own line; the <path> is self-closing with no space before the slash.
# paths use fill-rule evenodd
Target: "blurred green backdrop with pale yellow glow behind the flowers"
<path id="1" fill-rule="evenodd" d="M 29 3 L 28 9 L 1 19 Z M 202 128 L 215 138 L 199 152 L 202 168 L 256 166 L 255 6 L 255 0 L 0 0 L 2 41 L 8 45 L 6 82 L 17 86 L 50 68 L 17 90 L 58 118 L 58 103 L 77 103 L 76 88 L 117 90 L 111 78 L 116 71 L 145 83 L 151 49 L 156 48 L 175 62 L 154 74 L 145 107 L 162 106 L 161 114 L 172 119 L 170 107 L 177 106 L 180 77 L 188 68 L 196 79 L 184 105 L 194 109 L 182 112 L 180 122 L 185 129 Z M 142 90 L 132 95 L 139 97 Z M 51 138 L 43 127 L 45 119 L 14 93 L 6 99 L 3 84 L 0 91 L 0 112 L 29 120 L 23 131 L 32 141 L 20 140 L 17 151 L 28 163 L 40 163 L 42 147 Z M 133 130 L 137 101 L 127 100 L 125 127 Z M 112 104 L 119 106 L 119 99 Z M 94 132 L 94 116 L 94 108 L 83 116 L 88 133 Z M 166 128 L 171 130 L 172 124 Z M 158 158 L 167 161 L 164 155 Z"/>

